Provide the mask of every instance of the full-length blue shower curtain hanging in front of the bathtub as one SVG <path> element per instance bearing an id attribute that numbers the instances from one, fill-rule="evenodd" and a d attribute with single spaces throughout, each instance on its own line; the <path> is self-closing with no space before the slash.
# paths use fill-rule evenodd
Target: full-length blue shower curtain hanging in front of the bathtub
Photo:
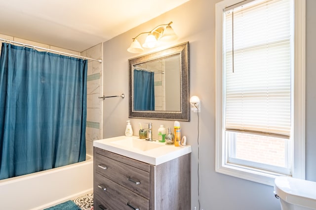
<path id="1" fill-rule="evenodd" d="M 85 160 L 87 60 L 2 43 L 0 180 Z"/>

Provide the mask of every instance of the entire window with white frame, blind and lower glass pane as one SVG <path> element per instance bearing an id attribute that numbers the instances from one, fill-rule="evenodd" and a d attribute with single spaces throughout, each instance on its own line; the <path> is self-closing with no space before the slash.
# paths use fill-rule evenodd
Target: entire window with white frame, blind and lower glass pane
<path id="1" fill-rule="evenodd" d="M 217 172 L 305 179 L 304 53 L 304 0 L 216 4 Z"/>

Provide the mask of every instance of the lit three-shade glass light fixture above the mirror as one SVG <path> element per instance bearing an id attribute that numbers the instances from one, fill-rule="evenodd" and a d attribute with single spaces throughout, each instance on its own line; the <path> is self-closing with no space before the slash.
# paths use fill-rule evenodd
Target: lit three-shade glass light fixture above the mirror
<path id="1" fill-rule="evenodd" d="M 142 32 L 138 34 L 135 38 L 132 38 L 133 41 L 130 44 L 129 48 L 127 49 L 130 53 L 141 53 L 144 51 L 144 48 L 154 48 L 159 45 L 159 42 L 167 42 L 167 41 L 174 41 L 177 39 L 177 34 L 171 28 L 172 21 L 168 24 L 162 24 L 157 26 L 155 29 Z M 139 41 L 137 41 L 137 37 L 141 34 L 148 33 L 144 44 L 141 46 Z"/>

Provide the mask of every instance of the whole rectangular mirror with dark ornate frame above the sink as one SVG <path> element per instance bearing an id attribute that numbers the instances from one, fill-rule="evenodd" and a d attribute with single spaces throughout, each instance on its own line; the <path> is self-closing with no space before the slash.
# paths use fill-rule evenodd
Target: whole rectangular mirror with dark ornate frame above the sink
<path id="1" fill-rule="evenodd" d="M 129 118 L 190 121 L 189 42 L 128 60 Z"/>

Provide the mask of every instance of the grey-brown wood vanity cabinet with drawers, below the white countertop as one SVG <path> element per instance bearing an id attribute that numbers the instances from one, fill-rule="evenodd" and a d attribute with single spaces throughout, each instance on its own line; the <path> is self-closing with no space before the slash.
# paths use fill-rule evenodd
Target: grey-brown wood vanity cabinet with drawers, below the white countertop
<path id="1" fill-rule="evenodd" d="M 94 147 L 94 210 L 190 210 L 190 153 L 151 165 Z"/>

